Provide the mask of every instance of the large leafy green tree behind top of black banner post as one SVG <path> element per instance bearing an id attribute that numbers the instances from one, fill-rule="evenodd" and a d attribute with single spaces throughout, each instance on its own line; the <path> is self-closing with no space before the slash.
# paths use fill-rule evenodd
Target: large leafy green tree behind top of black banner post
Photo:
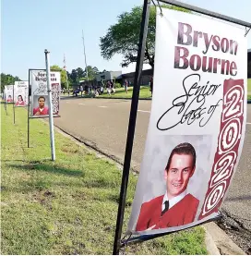
<path id="1" fill-rule="evenodd" d="M 176 6 L 163 5 L 161 7 L 189 12 L 184 8 Z M 137 61 L 141 16 L 141 6 L 136 6 L 131 12 L 124 12 L 118 16 L 117 23 L 108 29 L 105 36 L 101 37 L 100 47 L 103 58 L 111 59 L 113 55 L 121 54 L 124 56 L 122 67 L 127 67 L 130 63 Z M 155 6 L 150 6 L 144 63 L 148 63 L 152 68 L 154 67 L 155 24 L 156 8 Z"/>

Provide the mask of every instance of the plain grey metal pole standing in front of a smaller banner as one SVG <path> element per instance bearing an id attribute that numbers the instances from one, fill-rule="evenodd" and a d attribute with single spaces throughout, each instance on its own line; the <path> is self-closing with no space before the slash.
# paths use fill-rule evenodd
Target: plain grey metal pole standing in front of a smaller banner
<path id="1" fill-rule="evenodd" d="M 50 122 L 50 139 L 51 139 L 51 150 L 52 150 L 52 161 L 55 161 L 55 148 L 54 148 L 54 110 L 53 110 L 53 97 L 51 88 L 51 70 L 50 70 L 50 52 L 46 49 L 45 54 L 45 66 L 46 66 L 46 79 L 47 79 L 47 90 L 49 95 L 49 122 Z"/>

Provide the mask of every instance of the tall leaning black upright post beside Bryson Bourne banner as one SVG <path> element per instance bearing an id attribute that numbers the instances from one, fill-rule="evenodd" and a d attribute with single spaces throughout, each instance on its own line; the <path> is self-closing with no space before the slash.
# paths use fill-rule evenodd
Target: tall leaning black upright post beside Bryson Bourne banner
<path id="1" fill-rule="evenodd" d="M 151 0 L 144 0 L 142 19 L 140 25 L 140 33 L 139 33 L 139 43 L 138 43 L 138 51 L 137 51 L 137 66 L 134 78 L 134 88 L 131 102 L 131 110 L 130 110 L 130 118 L 127 130 L 127 140 L 125 146 L 125 160 L 123 167 L 123 176 L 120 188 L 120 198 L 118 205 L 118 213 L 117 213 L 117 221 L 116 221 L 116 229 L 114 236 L 114 251 L 113 255 L 118 255 L 120 250 L 120 239 L 122 234 L 122 225 L 124 220 L 125 213 L 125 198 L 126 198 L 126 190 L 130 172 L 130 164 L 131 164 L 131 156 L 132 156 L 132 148 L 135 134 L 135 126 L 136 126 L 136 118 L 137 118 L 137 104 L 138 104 L 138 95 L 140 90 L 140 75 L 143 67 L 143 61 L 145 56 L 145 48 L 146 48 L 146 40 L 148 33 L 148 25 L 149 25 L 149 6 Z"/>

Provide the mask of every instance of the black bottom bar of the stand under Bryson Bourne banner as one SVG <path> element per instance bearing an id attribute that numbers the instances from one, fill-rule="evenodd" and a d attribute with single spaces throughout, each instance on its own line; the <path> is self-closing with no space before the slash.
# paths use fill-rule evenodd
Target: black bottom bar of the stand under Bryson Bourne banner
<path id="1" fill-rule="evenodd" d="M 212 219 L 209 219 L 208 221 L 205 221 L 203 223 L 197 224 L 196 226 L 200 226 L 200 225 L 212 222 L 212 221 L 218 221 L 218 220 L 221 219 L 221 217 L 222 217 L 222 215 L 221 215 L 221 213 L 219 213 L 218 216 L 216 216 Z M 185 229 L 182 229 L 182 230 L 179 230 L 179 231 L 183 231 L 183 230 L 189 229 L 191 227 L 194 227 L 194 226 L 189 226 L 189 227 L 186 227 Z M 173 231 L 173 232 L 161 233 L 161 234 L 154 234 L 154 235 L 141 235 L 141 236 L 137 236 L 137 237 L 134 237 L 134 238 L 131 238 L 132 235 L 129 235 L 129 238 L 121 239 L 120 248 L 124 248 L 128 244 L 134 244 L 134 243 L 148 241 L 148 240 L 151 240 L 151 239 L 154 239 L 154 238 L 160 238 L 160 237 L 170 235 L 170 234 L 173 234 L 173 233 L 176 233 L 176 232 L 179 232 L 179 231 Z"/>

